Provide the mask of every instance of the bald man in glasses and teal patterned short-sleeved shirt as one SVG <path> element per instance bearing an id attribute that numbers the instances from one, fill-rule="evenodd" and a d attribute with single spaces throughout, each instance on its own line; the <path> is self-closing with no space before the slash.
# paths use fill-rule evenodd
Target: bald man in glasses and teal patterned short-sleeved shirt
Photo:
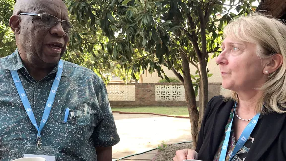
<path id="1" fill-rule="evenodd" d="M 62 0 L 18 0 L 16 51 L 0 59 L 0 161 L 111 161 L 119 142 L 107 91 L 62 61 L 72 24 Z"/>

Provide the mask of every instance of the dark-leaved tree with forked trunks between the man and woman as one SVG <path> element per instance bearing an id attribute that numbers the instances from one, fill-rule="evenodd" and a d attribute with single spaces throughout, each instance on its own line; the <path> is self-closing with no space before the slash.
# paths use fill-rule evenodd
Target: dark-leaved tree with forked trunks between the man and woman
<path id="1" fill-rule="evenodd" d="M 104 55 L 135 73 L 172 70 L 184 84 L 194 147 L 208 102 L 209 53 L 219 53 L 223 27 L 251 11 L 254 0 L 67 0 L 82 26 L 95 23 L 108 37 Z M 227 4 L 228 3 L 228 4 Z M 235 14 L 234 12 L 237 12 Z M 220 18 L 218 18 L 220 17 Z M 88 43 L 88 41 L 86 42 Z M 190 74 L 190 64 L 198 70 Z M 166 79 L 167 76 L 164 75 Z M 200 89 L 200 113 L 196 92 Z"/>

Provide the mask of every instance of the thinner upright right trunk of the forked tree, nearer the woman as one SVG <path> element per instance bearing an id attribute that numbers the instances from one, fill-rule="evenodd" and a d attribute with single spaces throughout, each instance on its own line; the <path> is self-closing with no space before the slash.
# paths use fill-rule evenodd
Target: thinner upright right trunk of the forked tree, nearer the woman
<path id="1" fill-rule="evenodd" d="M 208 74 L 207 74 L 207 62 L 206 59 L 199 60 L 200 64 L 200 95 L 201 95 L 201 107 L 200 107 L 200 119 L 199 119 L 199 129 L 201 128 L 202 119 L 205 113 L 205 108 L 209 100 L 209 87 L 208 87 Z"/>

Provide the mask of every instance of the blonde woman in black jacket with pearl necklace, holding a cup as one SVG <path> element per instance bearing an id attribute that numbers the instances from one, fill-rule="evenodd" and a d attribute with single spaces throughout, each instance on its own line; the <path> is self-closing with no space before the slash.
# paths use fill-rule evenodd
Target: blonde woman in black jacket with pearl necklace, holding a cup
<path id="1" fill-rule="evenodd" d="M 174 161 L 286 161 L 286 26 L 251 14 L 224 29 L 217 57 L 228 97 L 212 98 L 196 151 Z"/>

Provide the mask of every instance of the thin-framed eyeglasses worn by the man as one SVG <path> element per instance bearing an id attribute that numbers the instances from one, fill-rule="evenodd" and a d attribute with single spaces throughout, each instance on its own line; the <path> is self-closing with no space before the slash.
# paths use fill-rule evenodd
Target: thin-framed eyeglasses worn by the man
<path id="1" fill-rule="evenodd" d="M 55 16 L 52 16 L 50 14 L 42 13 L 42 14 L 37 14 L 37 13 L 20 13 L 19 15 L 30 15 L 30 16 L 37 16 L 41 17 L 41 22 L 50 26 L 54 27 L 56 26 L 59 22 L 62 24 L 62 28 L 65 32 L 71 32 L 71 29 L 73 28 L 73 25 L 69 21 L 61 20 L 58 19 Z"/>

